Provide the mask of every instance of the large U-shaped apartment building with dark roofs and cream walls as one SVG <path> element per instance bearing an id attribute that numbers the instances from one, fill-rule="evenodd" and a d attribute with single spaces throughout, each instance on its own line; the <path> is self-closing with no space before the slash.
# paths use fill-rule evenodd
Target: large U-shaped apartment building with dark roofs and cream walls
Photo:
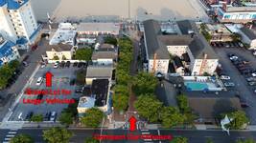
<path id="1" fill-rule="evenodd" d="M 180 34 L 163 35 L 157 21 L 144 22 L 146 71 L 167 74 L 171 57 L 183 59 L 183 55 L 187 54 L 189 60 L 186 61 L 189 63 L 183 65 L 189 66 L 179 66 L 179 69 L 188 68 L 192 75 L 203 75 L 205 72 L 213 74 L 219 64 L 218 56 L 199 33 L 196 24 L 184 20 L 178 21 L 177 25 Z"/>

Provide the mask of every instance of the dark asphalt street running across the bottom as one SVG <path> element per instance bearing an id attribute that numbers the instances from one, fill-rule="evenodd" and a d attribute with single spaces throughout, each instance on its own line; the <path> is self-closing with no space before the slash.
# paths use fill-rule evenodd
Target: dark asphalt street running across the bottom
<path id="1" fill-rule="evenodd" d="M 73 133 L 73 137 L 71 138 L 70 142 L 75 143 L 83 143 L 84 139 L 86 137 L 91 137 L 93 134 L 99 134 L 101 133 L 99 130 L 70 130 Z M 1 141 L 5 141 L 6 136 L 8 133 L 15 133 L 13 131 L 9 130 L 0 130 L 0 138 Z M 15 134 L 19 133 L 27 133 L 30 134 L 34 139 L 36 143 L 43 142 L 42 138 L 42 129 L 22 129 L 16 131 Z M 135 131 L 135 132 L 129 132 L 127 130 L 104 130 L 103 134 L 108 135 L 127 135 L 127 134 L 153 134 L 153 135 L 172 135 L 172 136 L 185 136 L 189 139 L 189 143 L 206 143 L 207 138 L 211 138 L 214 143 L 235 143 L 237 139 L 244 139 L 244 138 L 253 138 L 256 140 L 256 132 L 237 132 L 237 131 L 231 131 L 230 135 L 227 135 L 226 133 L 223 133 L 222 131 L 193 131 L 193 130 L 150 130 L 150 131 Z M 144 140 L 119 140 L 119 141 L 103 141 L 103 142 L 145 142 Z M 159 142 L 159 141 L 153 141 L 153 142 Z M 161 141 L 162 143 L 168 142 L 168 141 Z"/>

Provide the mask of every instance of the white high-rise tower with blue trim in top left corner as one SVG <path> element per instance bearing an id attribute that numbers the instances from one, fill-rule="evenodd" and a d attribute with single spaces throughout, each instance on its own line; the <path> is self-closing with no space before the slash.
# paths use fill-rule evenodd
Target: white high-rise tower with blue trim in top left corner
<path id="1" fill-rule="evenodd" d="M 0 0 L 0 33 L 15 43 L 26 38 L 32 44 L 38 30 L 29 0 Z"/>

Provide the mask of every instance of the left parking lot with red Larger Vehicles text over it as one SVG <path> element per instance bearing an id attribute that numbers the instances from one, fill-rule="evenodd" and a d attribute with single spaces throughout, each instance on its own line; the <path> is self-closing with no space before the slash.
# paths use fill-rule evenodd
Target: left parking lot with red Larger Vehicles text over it
<path id="1" fill-rule="evenodd" d="M 41 66 L 39 70 L 35 73 L 35 76 L 29 82 L 29 85 L 26 89 L 30 88 L 33 90 L 66 90 L 71 91 L 71 94 L 64 95 L 49 95 L 45 94 L 39 97 L 37 94 L 29 95 L 26 93 L 22 94 L 22 97 L 19 103 L 15 106 L 12 116 L 9 118 L 10 121 L 18 121 L 18 120 L 29 120 L 32 114 L 43 114 L 44 121 L 49 121 L 49 112 L 57 112 L 55 120 L 58 119 L 58 115 L 60 112 L 68 107 L 68 104 L 49 104 L 47 102 L 43 102 L 42 104 L 33 105 L 33 104 L 24 104 L 23 99 L 72 99 L 79 98 L 81 96 L 80 92 L 76 92 L 78 88 L 75 85 L 74 79 L 76 78 L 76 72 L 85 68 L 86 64 L 84 63 L 75 63 L 75 64 L 67 64 L 67 63 L 59 63 L 56 67 L 55 64 L 47 64 L 45 66 Z M 47 88 L 45 85 L 45 73 L 52 72 L 52 88 Z M 42 82 L 38 83 L 37 80 L 39 77 L 42 77 Z"/>

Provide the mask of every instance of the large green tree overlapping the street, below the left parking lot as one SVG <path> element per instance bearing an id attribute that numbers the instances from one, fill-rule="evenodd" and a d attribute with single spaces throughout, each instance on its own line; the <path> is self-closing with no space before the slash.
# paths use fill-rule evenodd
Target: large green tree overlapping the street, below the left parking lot
<path id="1" fill-rule="evenodd" d="M 70 131 L 59 127 L 43 131 L 43 139 L 48 143 L 68 143 L 72 135 Z"/>

